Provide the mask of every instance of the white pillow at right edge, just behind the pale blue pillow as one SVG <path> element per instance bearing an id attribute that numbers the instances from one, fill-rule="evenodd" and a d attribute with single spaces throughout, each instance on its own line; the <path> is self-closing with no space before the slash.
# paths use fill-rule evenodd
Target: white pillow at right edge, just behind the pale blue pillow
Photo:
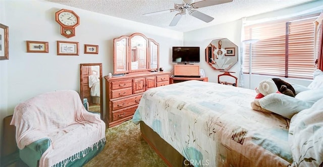
<path id="1" fill-rule="evenodd" d="M 306 101 L 312 106 L 317 100 L 323 98 L 323 88 L 302 91 L 295 98 Z"/>

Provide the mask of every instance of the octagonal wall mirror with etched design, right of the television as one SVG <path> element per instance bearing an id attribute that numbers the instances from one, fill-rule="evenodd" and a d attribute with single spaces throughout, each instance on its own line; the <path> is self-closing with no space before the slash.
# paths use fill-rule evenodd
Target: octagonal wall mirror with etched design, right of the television
<path id="1" fill-rule="evenodd" d="M 215 70 L 229 70 L 238 62 L 238 51 L 229 39 L 214 39 L 205 48 L 205 61 Z"/>

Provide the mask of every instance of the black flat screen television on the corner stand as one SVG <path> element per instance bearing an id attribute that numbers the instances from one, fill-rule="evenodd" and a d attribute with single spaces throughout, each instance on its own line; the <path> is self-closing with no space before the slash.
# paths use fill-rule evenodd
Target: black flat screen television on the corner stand
<path id="1" fill-rule="evenodd" d="M 200 47 L 198 46 L 173 46 L 173 63 L 199 63 Z"/>

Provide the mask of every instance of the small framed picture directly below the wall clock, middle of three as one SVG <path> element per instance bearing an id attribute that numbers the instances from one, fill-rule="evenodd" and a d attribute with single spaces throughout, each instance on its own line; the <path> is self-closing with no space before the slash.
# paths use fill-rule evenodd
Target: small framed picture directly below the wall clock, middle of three
<path id="1" fill-rule="evenodd" d="M 57 41 L 57 55 L 79 55 L 79 42 Z"/>

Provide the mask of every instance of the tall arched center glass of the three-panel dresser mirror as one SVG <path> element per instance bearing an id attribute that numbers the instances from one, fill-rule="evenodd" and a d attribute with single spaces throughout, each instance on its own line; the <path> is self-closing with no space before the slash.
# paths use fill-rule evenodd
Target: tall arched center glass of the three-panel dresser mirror
<path id="1" fill-rule="evenodd" d="M 131 38 L 131 70 L 147 69 L 147 40 L 140 35 Z"/>

